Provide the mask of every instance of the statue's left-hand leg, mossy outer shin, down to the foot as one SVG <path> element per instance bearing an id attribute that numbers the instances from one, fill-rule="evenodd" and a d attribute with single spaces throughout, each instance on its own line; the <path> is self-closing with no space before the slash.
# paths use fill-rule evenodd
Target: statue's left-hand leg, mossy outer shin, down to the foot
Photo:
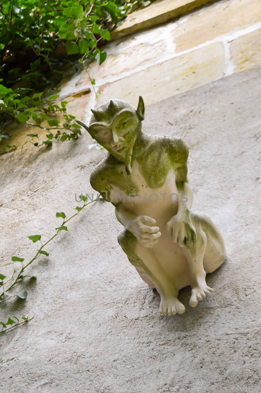
<path id="1" fill-rule="evenodd" d="M 178 290 L 155 258 L 153 250 L 142 246 L 126 229 L 119 233 L 118 242 L 141 278 L 161 295 L 160 314 L 183 314 L 185 307 L 177 299 Z"/>

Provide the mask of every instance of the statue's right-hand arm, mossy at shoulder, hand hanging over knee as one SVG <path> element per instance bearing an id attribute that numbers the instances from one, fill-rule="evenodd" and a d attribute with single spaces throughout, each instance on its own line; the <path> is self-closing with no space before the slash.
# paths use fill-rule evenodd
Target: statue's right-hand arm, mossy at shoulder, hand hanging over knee
<path id="1" fill-rule="evenodd" d="M 172 236 L 173 242 L 190 248 L 197 240 L 197 234 L 190 217 L 193 193 L 187 177 L 188 147 L 182 140 L 178 140 L 174 144 L 172 154 L 175 183 L 178 190 L 178 209 L 177 214 L 167 223 L 167 230 Z"/>

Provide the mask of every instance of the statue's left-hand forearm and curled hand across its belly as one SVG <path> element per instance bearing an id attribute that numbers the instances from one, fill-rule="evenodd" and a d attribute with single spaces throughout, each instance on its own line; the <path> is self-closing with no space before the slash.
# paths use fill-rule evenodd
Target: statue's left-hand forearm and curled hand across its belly
<path id="1" fill-rule="evenodd" d="M 161 236 L 155 220 L 148 216 L 136 216 L 130 211 L 126 210 L 124 205 L 119 202 L 115 207 L 115 215 L 120 224 L 130 231 L 142 246 L 151 248 L 157 243 Z"/>

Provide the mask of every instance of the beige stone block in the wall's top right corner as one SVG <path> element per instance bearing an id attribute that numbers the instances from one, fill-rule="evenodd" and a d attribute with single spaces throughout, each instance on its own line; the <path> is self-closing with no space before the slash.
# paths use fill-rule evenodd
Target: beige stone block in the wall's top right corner
<path id="1" fill-rule="evenodd" d="M 261 21 L 260 0 L 227 0 L 195 12 L 173 30 L 176 52 Z"/>

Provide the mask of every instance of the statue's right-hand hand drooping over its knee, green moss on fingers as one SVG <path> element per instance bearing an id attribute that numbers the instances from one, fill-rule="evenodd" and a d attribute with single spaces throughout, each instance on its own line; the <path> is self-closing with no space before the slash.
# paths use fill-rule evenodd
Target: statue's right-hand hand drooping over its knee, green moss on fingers
<path id="1" fill-rule="evenodd" d="M 186 214 L 185 217 L 179 213 L 173 216 L 167 223 L 167 232 L 172 236 L 173 242 L 179 243 L 181 247 L 186 244 L 186 247 L 190 248 L 197 241 L 197 233 L 190 214 Z"/>

